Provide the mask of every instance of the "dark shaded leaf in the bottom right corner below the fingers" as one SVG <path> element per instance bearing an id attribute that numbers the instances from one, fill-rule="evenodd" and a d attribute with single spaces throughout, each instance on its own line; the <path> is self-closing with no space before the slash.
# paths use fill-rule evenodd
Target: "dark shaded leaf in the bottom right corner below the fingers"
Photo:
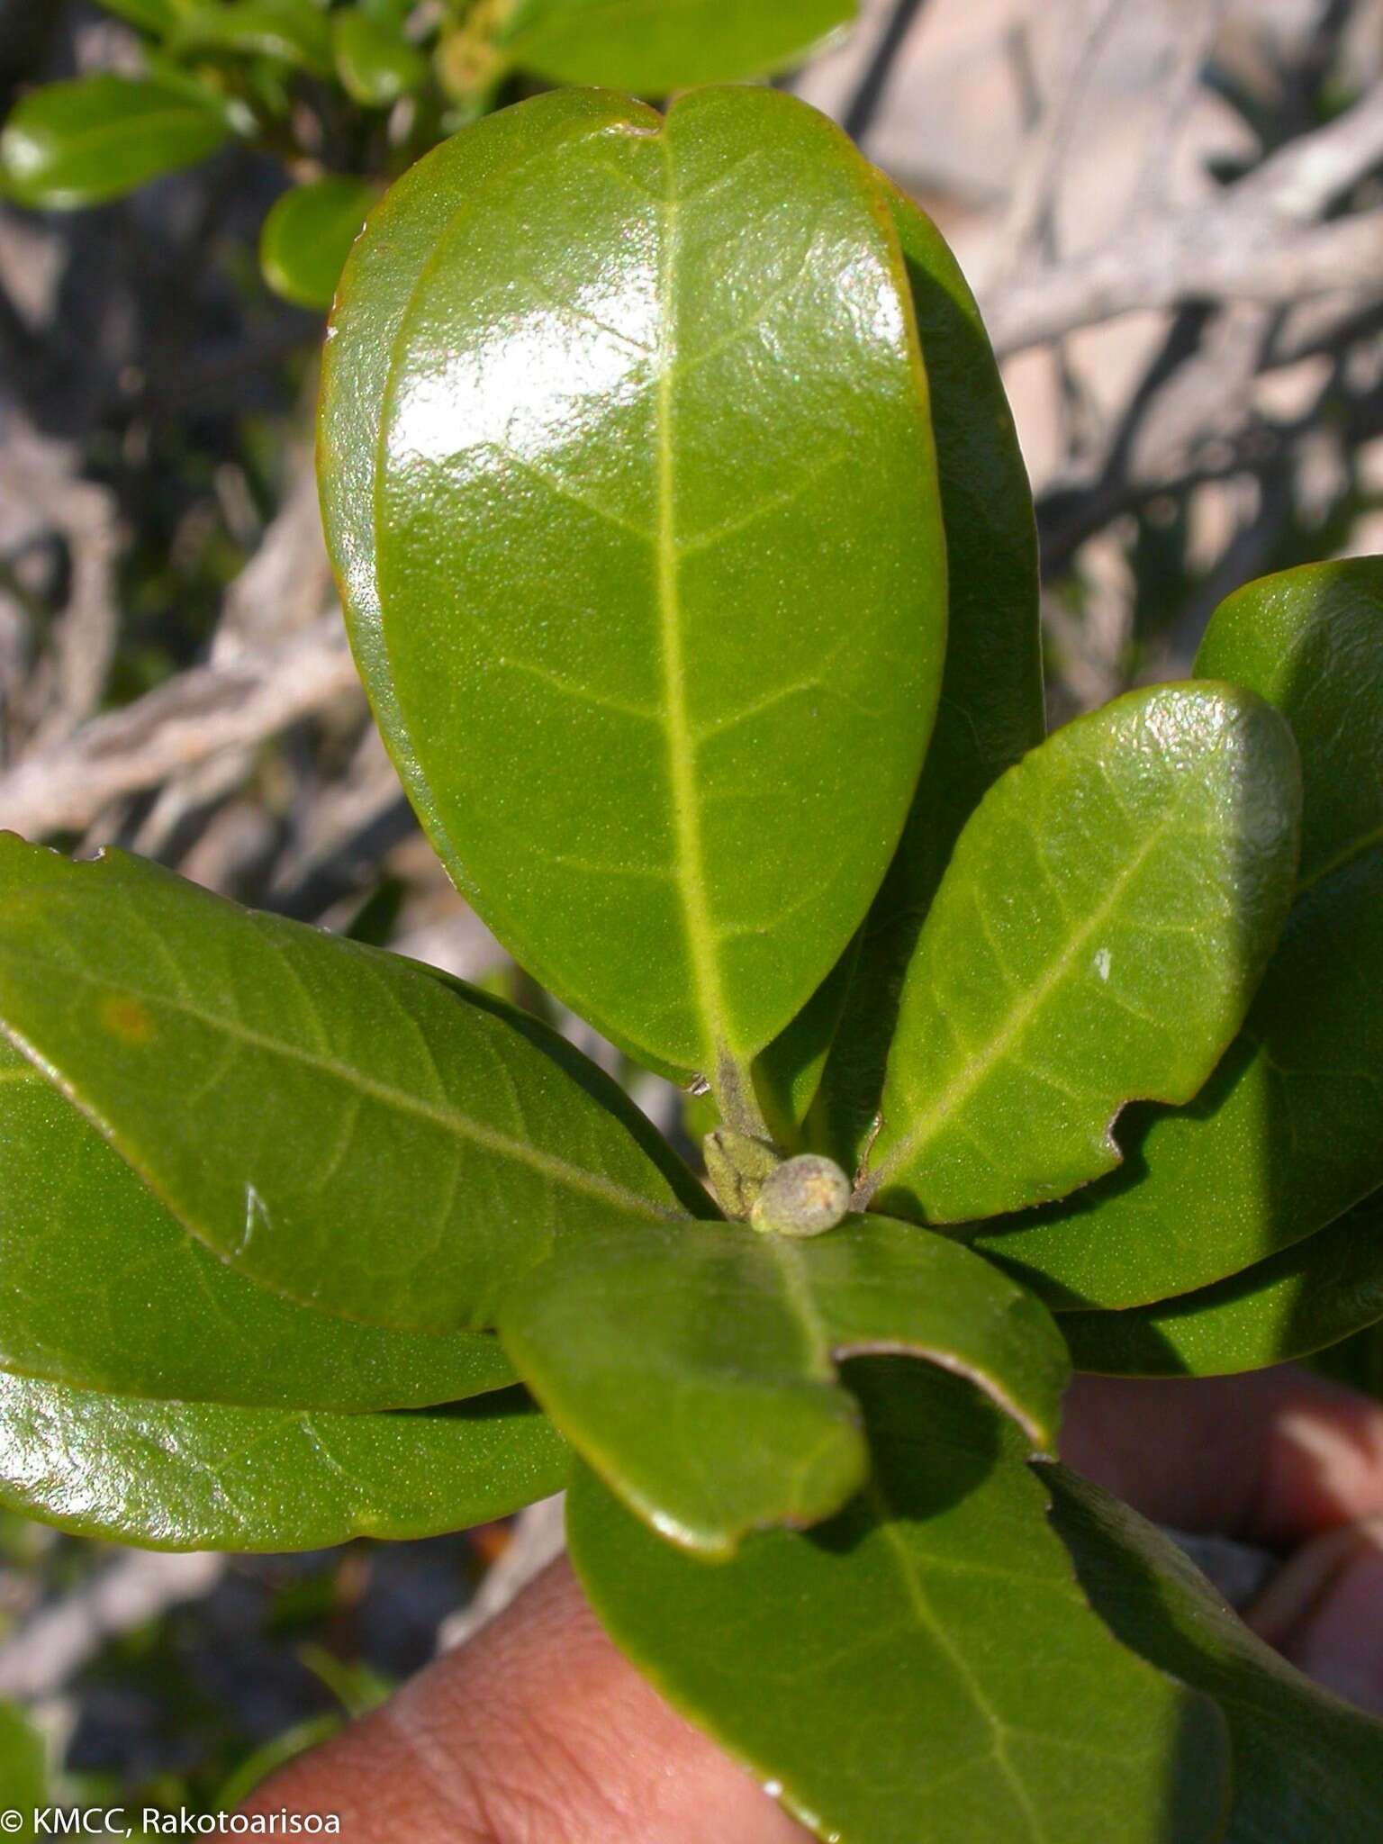
<path id="1" fill-rule="evenodd" d="M 1097 1614 L 1130 1650 L 1224 1711 L 1234 1746 L 1226 1844 L 1374 1844 L 1383 1722 L 1254 1637 L 1182 1551 L 1127 1505 L 1064 1468 L 1040 1472 Z"/>

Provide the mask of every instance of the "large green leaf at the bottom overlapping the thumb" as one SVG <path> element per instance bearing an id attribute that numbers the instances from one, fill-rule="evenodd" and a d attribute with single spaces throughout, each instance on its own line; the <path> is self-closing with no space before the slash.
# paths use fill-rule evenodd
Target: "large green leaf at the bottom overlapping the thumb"
<path id="1" fill-rule="evenodd" d="M 1093 1617 L 1005 1420 L 924 1365 L 850 1381 L 869 1490 L 734 1562 L 680 1554 L 575 1468 L 572 1558 L 614 1641 L 822 1838 L 1217 1838 L 1219 1711 Z"/>

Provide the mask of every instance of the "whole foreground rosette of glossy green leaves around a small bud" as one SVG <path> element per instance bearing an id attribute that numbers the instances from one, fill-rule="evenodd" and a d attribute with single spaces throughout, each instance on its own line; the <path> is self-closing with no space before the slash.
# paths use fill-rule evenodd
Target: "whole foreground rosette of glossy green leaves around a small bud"
<path id="1" fill-rule="evenodd" d="M 1379 564 L 1044 738 L 974 301 L 765 89 L 441 146 L 319 433 L 433 846 L 710 1090 L 710 1182 L 476 988 L 9 839 L 0 1501 L 284 1549 L 570 1481 L 614 1639 L 822 1838 L 1372 1840 L 1383 1728 L 1047 1457 L 1176 1300 L 1248 1363 L 1300 1315 L 1235 1274 L 1379 1311 Z"/>

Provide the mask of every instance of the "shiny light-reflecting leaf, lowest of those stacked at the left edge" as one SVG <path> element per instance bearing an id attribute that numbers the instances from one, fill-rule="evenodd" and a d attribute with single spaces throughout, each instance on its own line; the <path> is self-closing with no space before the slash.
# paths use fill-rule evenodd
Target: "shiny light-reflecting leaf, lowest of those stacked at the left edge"
<path id="1" fill-rule="evenodd" d="M 559 1492 L 568 1462 L 520 1390 L 400 1414 L 290 1414 L 0 1376 L 0 1505 L 142 1549 L 439 1536 Z"/>

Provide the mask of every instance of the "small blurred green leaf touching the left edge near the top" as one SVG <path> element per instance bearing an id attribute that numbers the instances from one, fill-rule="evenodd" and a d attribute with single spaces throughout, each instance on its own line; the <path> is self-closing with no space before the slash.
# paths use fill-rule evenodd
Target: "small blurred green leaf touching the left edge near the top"
<path id="1" fill-rule="evenodd" d="M 17 205 L 74 210 L 205 160 L 229 138 L 208 94 L 133 77 L 77 77 L 24 96 L 0 131 L 0 186 Z"/>

